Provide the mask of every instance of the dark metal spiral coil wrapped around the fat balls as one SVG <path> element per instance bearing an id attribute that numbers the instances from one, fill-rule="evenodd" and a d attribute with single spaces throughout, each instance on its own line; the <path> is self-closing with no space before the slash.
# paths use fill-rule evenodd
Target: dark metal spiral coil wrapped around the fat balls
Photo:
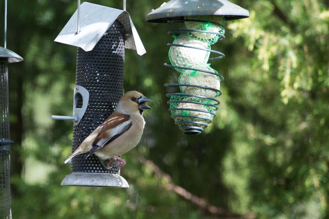
<path id="1" fill-rule="evenodd" d="M 209 23 L 209 21 L 200 21 L 200 20 L 188 20 L 188 19 L 184 19 L 184 20 L 172 20 L 170 22 L 184 22 L 184 21 L 195 21 L 195 22 L 207 22 Z M 210 23 L 214 23 L 217 24 L 219 26 L 224 27 L 222 24 L 218 24 L 215 22 L 210 22 Z M 177 31 L 169 31 L 168 34 L 181 34 L 181 33 L 186 33 L 186 32 L 201 32 L 201 33 L 211 33 L 211 34 L 216 34 L 219 35 L 219 39 L 218 41 L 222 41 L 223 39 L 225 39 L 225 36 L 221 33 L 216 33 L 216 32 L 210 32 L 210 31 L 203 31 L 203 30 L 177 30 Z M 209 58 L 208 60 L 215 60 L 215 59 L 221 59 L 223 57 L 225 57 L 225 55 L 221 52 L 215 51 L 215 50 L 211 50 L 211 49 L 204 49 L 204 48 L 198 48 L 198 47 L 192 47 L 192 46 L 186 46 L 186 45 L 180 45 L 180 44 L 172 44 L 172 43 L 168 43 L 168 46 L 179 46 L 179 47 L 186 47 L 186 48 L 192 48 L 192 49 L 198 49 L 198 50 L 204 50 L 204 51 L 208 51 L 211 53 L 216 53 L 219 54 L 219 56 L 214 57 L 214 58 Z M 210 72 L 210 71 L 206 71 L 206 70 L 202 70 L 202 69 L 195 69 L 195 68 L 190 68 L 190 67 L 185 67 L 185 66 L 177 66 L 177 65 L 171 65 L 170 62 L 164 63 L 164 66 L 166 67 L 170 67 L 170 68 L 175 68 L 175 69 L 184 69 L 184 70 L 193 70 L 193 71 L 200 71 L 200 72 L 205 72 L 208 74 L 212 74 L 215 75 L 217 77 L 220 78 L 219 81 L 222 81 L 224 79 L 223 76 L 216 74 L 214 72 Z M 165 87 L 181 87 L 181 86 L 188 86 L 188 87 L 196 87 L 196 88 L 201 88 L 201 89 L 207 89 L 207 90 L 212 90 L 218 93 L 218 95 L 216 95 L 216 97 L 220 96 L 222 94 L 222 92 L 216 88 L 213 87 L 206 87 L 206 86 L 200 86 L 200 85 L 191 85 L 191 84 L 179 84 L 179 83 L 168 83 L 168 84 L 164 84 Z M 213 111 L 216 111 L 218 109 L 218 104 L 220 103 L 219 100 L 215 99 L 215 98 L 211 98 L 211 97 L 205 97 L 205 96 L 199 96 L 199 95 L 192 95 L 192 94 L 184 94 L 184 93 L 171 93 L 171 94 L 166 94 L 167 97 L 172 97 L 172 96 L 181 96 L 181 97 L 188 97 L 188 98 L 195 98 L 195 99 L 204 99 L 204 100 L 209 100 L 208 103 L 205 102 L 199 102 L 199 101 L 189 101 L 189 100 L 169 100 L 167 101 L 168 104 L 170 103 L 178 103 L 178 104 L 202 104 L 203 106 L 209 106 L 211 108 L 213 108 Z M 179 111 L 196 111 L 196 112 L 201 112 L 201 113 L 209 113 L 211 115 L 213 115 L 214 117 L 216 116 L 216 114 L 214 112 L 211 111 L 206 111 L 206 110 L 201 110 L 201 109 L 191 109 L 191 108 L 169 108 L 169 111 L 175 111 L 179 110 Z M 212 122 L 212 118 L 207 118 L 204 116 L 195 116 L 195 115 L 183 115 L 184 113 L 181 114 L 175 114 L 172 115 L 171 118 L 176 118 L 175 124 L 178 124 L 179 128 L 184 130 L 184 134 L 185 135 L 197 135 L 200 134 L 206 127 L 208 127 L 209 123 Z M 177 118 L 179 118 L 180 120 L 177 120 Z M 201 120 L 201 121 L 195 121 L 195 120 Z M 184 125 L 185 124 L 185 125 Z"/>

